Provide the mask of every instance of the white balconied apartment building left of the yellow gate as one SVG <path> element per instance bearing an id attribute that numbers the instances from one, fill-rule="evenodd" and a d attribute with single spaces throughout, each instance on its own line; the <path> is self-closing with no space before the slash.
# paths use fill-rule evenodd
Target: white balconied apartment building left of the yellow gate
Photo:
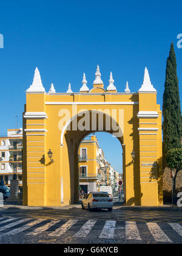
<path id="1" fill-rule="evenodd" d="M 0 180 L 10 187 L 16 174 L 19 190 L 22 190 L 22 128 L 8 129 L 7 136 L 0 137 Z"/>

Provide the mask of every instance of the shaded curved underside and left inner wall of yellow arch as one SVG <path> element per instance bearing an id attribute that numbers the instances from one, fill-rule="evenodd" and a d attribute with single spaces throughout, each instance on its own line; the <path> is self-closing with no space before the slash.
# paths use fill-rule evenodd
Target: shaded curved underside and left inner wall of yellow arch
<path id="1" fill-rule="evenodd" d="M 73 130 L 73 128 L 75 128 L 73 127 L 73 122 L 75 122 L 76 124 L 80 124 L 79 122 L 83 122 L 83 127 L 86 127 L 86 129 L 79 130 L 79 128 L 82 128 L 81 126 L 79 126 L 77 127 L 77 130 Z M 88 122 L 89 124 L 86 124 L 86 122 Z M 78 115 L 70 118 L 64 126 L 64 129 L 62 129 L 61 133 L 61 147 L 64 148 L 64 146 L 67 146 L 67 154 L 69 156 L 70 204 L 78 203 L 79 198 L 79 145 L 85 137 L 89 136 L 93 132 L 108 132 L 113 136 L 117 137 L 123 148 L 123 166 L 125 163 L 123 130 L 121 129 L 121 126 L 118 124 L 115 118 L 113 118 L 111 115 L 108 115 L 108 113 L 99 112 L 96 110 L 81 112 Z M 66 144 L 64 144 L 64 140 L 66 141 Z M 71 141 L 72 143 L 70 143 Z M 70 146 L 72 144 L 73 148 Z"/>

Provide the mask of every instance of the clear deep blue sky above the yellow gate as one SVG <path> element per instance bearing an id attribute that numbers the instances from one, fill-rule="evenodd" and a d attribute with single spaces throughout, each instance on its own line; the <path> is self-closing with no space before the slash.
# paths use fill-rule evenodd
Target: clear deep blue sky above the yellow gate
<path id="1" fill-rule="evenodd" d="M 16 127 L 16 115 L 22 126 L 25 90 L 36 66 L 46 91 L 53 83 L 57 92 L 66 92 L 69 82 L 79 91 L 83 73 L 92 88 L 97 64 L 105 87 L 112 71 L 118 91 L 124 91 L 126 80 L 131 91 L 138 91 L 147 66 L 162 104 L 166 58 L 174 41 L 181 93 L 181 7 L 178 0 L 1 2 L 0 133 Z"/>

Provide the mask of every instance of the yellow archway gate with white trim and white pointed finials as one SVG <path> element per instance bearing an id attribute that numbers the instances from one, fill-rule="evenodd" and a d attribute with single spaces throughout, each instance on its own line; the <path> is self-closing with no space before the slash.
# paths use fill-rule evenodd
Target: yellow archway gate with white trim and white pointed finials
<path id="1" fill-rule="evenodd" d="M 147 68 L 137 93 L 130 93 L 128 84 L 124 93 L 118 93 L 113 82 L 111 73 L 109 86 L 104 89 L 98 66 L 91 90 L 84 74 L 79 93 L 73 93 L 70 85 L 67 93 L 56 93 L 53 84 L 46 93 L 36 68 L 23 113 L 24 205 L 78 202 L 78 146 L 96 131 L 112 133 L 123 147 L 126 205 L 163 204 L 157 91 Z M 53 161 L 47 154 L 49 149 Z"/>

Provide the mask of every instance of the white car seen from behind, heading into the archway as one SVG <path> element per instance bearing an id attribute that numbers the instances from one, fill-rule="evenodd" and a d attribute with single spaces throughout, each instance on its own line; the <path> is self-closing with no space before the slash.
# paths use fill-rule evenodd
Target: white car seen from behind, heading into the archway
<path id="1" fill-rule="evenodd" d="M 106 208 L 109 211 L 112 211 L 113 201 L 107 193 L 90 192 L 88 196 L 81 202 L 81 207 L 83 209 L 88 209 L 89 212 L 95 208 Z"/>

